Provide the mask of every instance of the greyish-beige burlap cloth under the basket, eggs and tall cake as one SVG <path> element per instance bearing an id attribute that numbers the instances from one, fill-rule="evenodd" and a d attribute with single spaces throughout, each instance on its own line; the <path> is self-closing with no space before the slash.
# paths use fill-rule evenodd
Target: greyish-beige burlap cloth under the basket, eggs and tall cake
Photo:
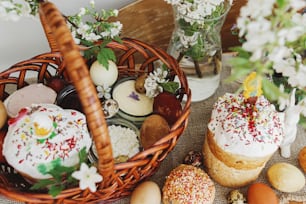
<path id="1" fill-rule="evenodd" d="M 230 54 L 224 54 L 223 55 L 223 70 L 222 70 L 222 79 L 226 78 L 230 74 L 230 66 L 228 65 L 228 59 L 230 57 Z M 204 142 L 204 137 L 207 129 L 207 123 L 210 119 L 211 110 L 213 107 L 213 104 L 217 100 L 219 96 L 222 96 L 226 92 L 235 92 L 237 90 L 237 87 L 239 86 L 239 83 L 225 83 L 221 81 L 220 87 L 216 91 L 216 93 L 208 98 L 207 100 L 204 100 L 202 102 L 195 102 L 191 105 L 191 115 L 189 117 L 189 123 L 188 127 L 181 135 L 177 145 L 175 146 L 174 150 L 167 156 L 167 158 L 161 163 L 161 166 L 159 170 L 153 175 L 149 180 L 155 181 L 159 184 L 160 188 L 162 189 L 162 186 L 165 182 L 166 176 L 170 173 L 170 171 L 177 167 L 179 164 L 182 163 L 184 157 L 187 155 L 187 153 L 190 150 L 195 151 L 201 151 L 202 145 Z M 297 161 L 297 155 L 298 152 L 302 147 L 306 146 L 306 132 L 304 129 L 299 127 L 297 138 L 292 145 L 291 148 L 291 157 L 289 159 L 283 158 L 280 156 L 279 151 L 277 151 L 272 159 L 267 163 L 266 168 L 262 171 L 260 177 L 257 181 L 269 183 L 266 180 L 266 171 L 267 168 L 271 166 L 271 164 L 276 162 L 288 162 L 295 166 L 299 167 L 298 161 Z M 225 204 L 227 203 L 226 198 L 227 194 L 233 190 L 231 188 L 225 188 L 217 183 L 216 185 L 216 197 L 215 197 L 215 204 Z M 242 193 L 246 195 L 248 186 L 239 189 Z M 288 200 L 296 200 L 296 201 L 302 201 L 304 200 L 306 203 L 306 187 L 299 191 L 295 192 L 293 194 L 284 194 L 277 190 L 275 192 L 279 195 L 281 203 L 289 203 Z M 289 199 L 290 198 L 290 199 Z M 0 203 L 17 203 L 17 202 L 11 202 L 3 197 L 0 197 Z M 114 204 L 128 204 L 129 198 L 123 198 L 121 200 L 118 200 L 116 202 L 113 202 Z M 299 202 L 302 203 L 302 202 Z"/>

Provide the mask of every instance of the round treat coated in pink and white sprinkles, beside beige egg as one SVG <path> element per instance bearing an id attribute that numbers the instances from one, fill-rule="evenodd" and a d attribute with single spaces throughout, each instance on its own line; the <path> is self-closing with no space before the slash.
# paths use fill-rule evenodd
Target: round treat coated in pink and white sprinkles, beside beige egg
<path id="1" fill-rule="evenodd" d="M 181 164 L 167 176 L 162 200 L 164 204 L 212 204 L 215 191 L 214 182 L 205 171 Z"/>

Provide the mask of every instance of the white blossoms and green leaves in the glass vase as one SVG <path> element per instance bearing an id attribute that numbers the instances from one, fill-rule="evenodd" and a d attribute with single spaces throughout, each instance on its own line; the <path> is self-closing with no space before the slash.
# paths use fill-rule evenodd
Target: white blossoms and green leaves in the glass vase
<path id="1" fill-rule="evenodd" d="M 189 56 L 193 60 L 203 59 L 213 46 L 206 35 L 219 36 L 218 32 L 223 24 L 223 21 L 219 19 L 227 13 L 232 0 L 165 1 L 171 4 L 175 11 L 174 18 L 177 25 L 175 35 L 172 37 L 175 49 L 182 56 Z M 208 55 L 212 56 L 214 53 L 208 53 Z"/>

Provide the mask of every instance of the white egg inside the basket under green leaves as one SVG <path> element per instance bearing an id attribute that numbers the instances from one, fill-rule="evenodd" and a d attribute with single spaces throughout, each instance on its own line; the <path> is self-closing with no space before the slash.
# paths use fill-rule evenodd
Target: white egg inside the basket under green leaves
<path id="1" fill-rule="evenodd" d="M 93 83 L 97 86 L 112 86 L 118 78 L 117 65 L 112 61 L 108 61 L 108 69 L 98 61 L 95 61 L 89 71 Z"/>

